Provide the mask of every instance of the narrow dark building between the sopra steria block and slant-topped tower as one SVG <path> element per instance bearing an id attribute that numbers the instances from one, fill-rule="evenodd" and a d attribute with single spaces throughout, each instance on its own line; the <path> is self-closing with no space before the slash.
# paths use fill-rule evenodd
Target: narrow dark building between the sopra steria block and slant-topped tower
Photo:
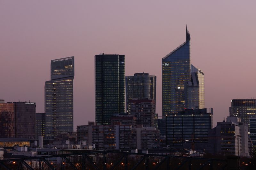
<path id="1" fill-rule="evenodd" d="M 45 137 L 45 113 L 36 113 L 36 139 Z"/>

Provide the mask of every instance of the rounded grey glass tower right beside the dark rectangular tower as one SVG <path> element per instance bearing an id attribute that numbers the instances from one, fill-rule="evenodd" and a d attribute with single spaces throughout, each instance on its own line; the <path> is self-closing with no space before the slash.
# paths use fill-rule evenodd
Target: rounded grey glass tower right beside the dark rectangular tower
<path id="1" fill-rule="evenodd" d="M 135 73 L 125 77 L 126 110 L 133 98 L 153 99 L 156 102 L 156 76 L 148 73 Z"/>

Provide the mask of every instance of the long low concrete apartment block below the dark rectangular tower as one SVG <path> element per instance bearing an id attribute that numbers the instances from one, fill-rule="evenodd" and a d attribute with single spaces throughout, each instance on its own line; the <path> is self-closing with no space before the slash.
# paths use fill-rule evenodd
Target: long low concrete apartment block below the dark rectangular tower
<path id="1" fill-rule="evenodd" d="M 77 141 L 95 149 L 151 149 L 159 147 L 159 130 L 132 125 L 77 126 Z"/>

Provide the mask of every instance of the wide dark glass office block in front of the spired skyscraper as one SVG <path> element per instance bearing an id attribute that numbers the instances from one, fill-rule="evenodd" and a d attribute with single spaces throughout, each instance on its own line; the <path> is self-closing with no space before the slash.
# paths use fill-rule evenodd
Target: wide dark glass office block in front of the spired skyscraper
<path id="1" fill-rule="evenodd" d="M 170 135 L 175 148 L 204 150 L 208 144 L 208 130 L 213 128 L 213 109 L 185 109 L 169 116 Z"/>

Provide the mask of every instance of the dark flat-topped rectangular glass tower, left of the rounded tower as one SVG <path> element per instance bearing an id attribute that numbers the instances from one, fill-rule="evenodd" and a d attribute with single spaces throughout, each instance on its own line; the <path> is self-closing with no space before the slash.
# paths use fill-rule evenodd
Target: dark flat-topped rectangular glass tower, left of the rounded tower
<path id="1" fill-rule="evenodd" d="M 95 55 L 95 122 L 110 125 L 125 113 L 124 55 Z"/>

